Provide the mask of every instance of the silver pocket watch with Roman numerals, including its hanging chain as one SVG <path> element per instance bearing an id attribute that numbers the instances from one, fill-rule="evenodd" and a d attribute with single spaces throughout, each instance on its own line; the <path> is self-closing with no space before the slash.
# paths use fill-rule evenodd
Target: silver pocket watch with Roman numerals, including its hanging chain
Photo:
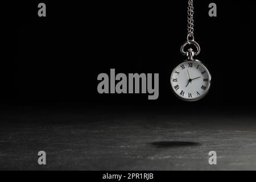
<path id="1" fill-rule="evenodd" d="M 194 39 L 194 8 L 193 0 L 188 0 L 188 36 L 187 41 L 181 46 L 180 51 L 187 60 L 177 65 L 171 74 L 172 90 L 177 97 L 184 101 L 198 101 L 209 91 L 212 77 L 207 67 L 194 56 L 199 55 L 200 46 Z M 187 51 L 185 47 L 190 46 Z M 192 47 L 196 48 L 194 52 Z"/>

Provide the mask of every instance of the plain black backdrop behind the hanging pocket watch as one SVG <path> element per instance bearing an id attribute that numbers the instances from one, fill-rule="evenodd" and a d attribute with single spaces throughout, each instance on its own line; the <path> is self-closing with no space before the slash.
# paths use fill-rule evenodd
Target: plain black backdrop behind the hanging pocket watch
<path id="1" fill-rule="evenodd" d="M 254 106 L 255 55 L 253 1 L 195 1 L 197 59 L 212 73 L 203 100 L 187 103 L 171 92 L 172 69 L 185 59 L 187 1 L 20 2 L 18 56 L 12 86 L 3 100 L 12 104 L 132 104 L 168 106 Z M 208 5 L 217 4 L 217 17 Z M 159 98 L 147 94 L 98 94 L 97 76 L 159 73 Z M 3 69 L 3 68 L 2 68 Z M 12 89 L 9 89 L 12 88 Z"/>

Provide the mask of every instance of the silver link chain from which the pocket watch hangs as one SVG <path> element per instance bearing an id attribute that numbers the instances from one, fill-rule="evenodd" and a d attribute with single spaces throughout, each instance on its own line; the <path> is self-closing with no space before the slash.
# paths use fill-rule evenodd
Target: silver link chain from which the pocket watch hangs
<path id="1" fill-rule="evenodd" d="M 193 0 L 188 0 L 188 40 L 194 40 Z"/>

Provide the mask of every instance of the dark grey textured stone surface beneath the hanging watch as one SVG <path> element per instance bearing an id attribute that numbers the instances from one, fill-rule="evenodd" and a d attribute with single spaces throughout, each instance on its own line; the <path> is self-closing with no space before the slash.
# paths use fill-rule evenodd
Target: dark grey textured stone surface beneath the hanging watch
<path id="1" fill-rule="evenodd" d="M 2 114 L 0 169 L 256 169 L 251 115 L 117 113 Z M 47 166 L 37 163 L 41 150 Z M 208 164 L 212 150 L 217 166 Z"/>

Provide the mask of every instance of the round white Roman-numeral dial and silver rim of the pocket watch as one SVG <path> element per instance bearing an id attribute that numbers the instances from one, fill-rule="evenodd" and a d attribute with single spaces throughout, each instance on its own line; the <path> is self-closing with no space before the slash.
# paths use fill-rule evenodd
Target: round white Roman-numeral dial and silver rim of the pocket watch
<path id="1" fill-rule="evenodd" d="M 208 93 L 210 80 L 208 69 L 200 61 L 184 61 L 172 71 L 171 86 L 182 100 L 197 101 Z"/>

